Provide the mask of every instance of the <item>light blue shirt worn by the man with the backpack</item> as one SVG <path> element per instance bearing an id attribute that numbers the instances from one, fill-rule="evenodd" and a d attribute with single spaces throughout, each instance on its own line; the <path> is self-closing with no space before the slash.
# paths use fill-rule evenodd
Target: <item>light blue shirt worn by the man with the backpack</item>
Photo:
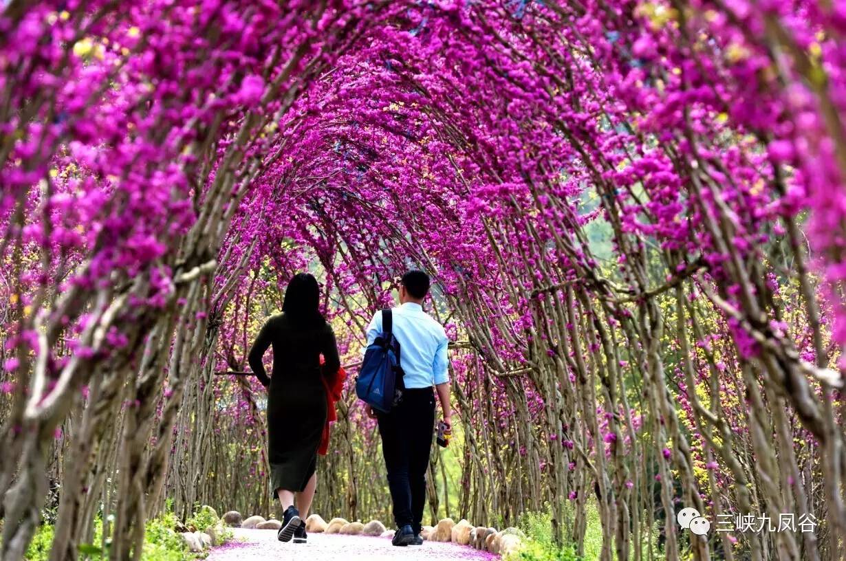
<path id="1" fill-rule="evenodd" d="M 403 367 L 406 388 L 431 388 L 449 382 L 449 339 L 440 323 L 423 311 L 420 304 L 406 302 L 392 310 L 391 331 L 399 343 L 399 365 Z M 367 344 L 382 333 L 382 311 L 367 326 Z"/>

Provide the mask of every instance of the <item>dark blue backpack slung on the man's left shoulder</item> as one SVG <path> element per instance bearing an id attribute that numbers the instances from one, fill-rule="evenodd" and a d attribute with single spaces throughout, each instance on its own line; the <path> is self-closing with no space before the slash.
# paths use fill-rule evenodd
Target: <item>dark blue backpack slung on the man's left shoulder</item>
<path id="1" fill-rule="evenodd" d="M 405 384 L 399 366 L 399 343 L 393 337 L 393 316 L 382 310 L 382 333 L 365 350 L 355 394 L 373 409 L 387 413 L 403 397 Z"/>

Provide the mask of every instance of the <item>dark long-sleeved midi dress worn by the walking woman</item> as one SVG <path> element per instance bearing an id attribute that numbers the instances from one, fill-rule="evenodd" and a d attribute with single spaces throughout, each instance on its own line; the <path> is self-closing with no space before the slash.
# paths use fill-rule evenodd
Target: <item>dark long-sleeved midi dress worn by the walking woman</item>
<path id="1" fill-rule="evenodd" d="M 272 377 L 261 357 L 273 347 Z M 320 364 L 320 355 L 325 363 Z M 321 377 L 338 371 L 338 346 L 327 322 L 301 325 L 281 313 L 271 316 L 250 349 L 250 368 L 267 395 L 267 454 L 271 490 L 302 491 L 317 465 L 326 424 L 326 389 Z"/>

